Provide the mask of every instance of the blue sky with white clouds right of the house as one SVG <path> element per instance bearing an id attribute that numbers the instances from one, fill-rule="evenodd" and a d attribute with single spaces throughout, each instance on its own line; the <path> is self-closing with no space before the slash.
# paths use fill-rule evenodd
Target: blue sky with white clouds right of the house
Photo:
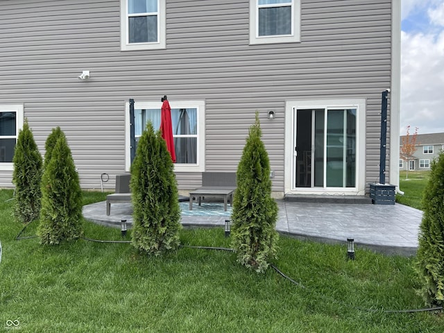
<path id="1" fill-rule="evenodd" d="M 444 133 L 444 0 L 401 0 L 401 122 Z"/>

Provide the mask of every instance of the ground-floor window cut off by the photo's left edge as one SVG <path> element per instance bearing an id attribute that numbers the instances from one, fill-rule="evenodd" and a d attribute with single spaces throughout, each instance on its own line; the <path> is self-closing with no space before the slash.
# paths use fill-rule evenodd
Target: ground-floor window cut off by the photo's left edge
<path id="1" fill-rule="evenodd" d="M 0 105 L 0 170 L 13 170 L 15 144 L 23 126 L 23 105 Z"/>

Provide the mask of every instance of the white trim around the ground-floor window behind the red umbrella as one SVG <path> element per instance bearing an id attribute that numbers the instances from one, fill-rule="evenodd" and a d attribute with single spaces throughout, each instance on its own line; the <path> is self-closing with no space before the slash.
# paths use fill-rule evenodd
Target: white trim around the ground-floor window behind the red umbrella
<path id="1" fill-rule="evenodd" d="M 174 163 L 176 172 L 203 172 L 205 171 L 205 101 L 169 101 L 171 109 L 196 108 L 198 137 L 197 137 L 197 163 Z M 135 101 L 135 109 L 160 109 L 160 101 Z M 158 128 L 155 128 L 158 130 Z M 130 171 L 130 103 L 125 103 L 125 170 Z"/>

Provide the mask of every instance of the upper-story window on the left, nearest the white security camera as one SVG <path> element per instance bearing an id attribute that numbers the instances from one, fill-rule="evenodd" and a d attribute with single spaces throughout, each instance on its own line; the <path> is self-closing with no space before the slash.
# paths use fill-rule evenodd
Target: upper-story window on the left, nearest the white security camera
<path id="1" fill-rule="evenodd" d="M 121 0 L 121 50 L 165 49 L 165 1 Z"/>

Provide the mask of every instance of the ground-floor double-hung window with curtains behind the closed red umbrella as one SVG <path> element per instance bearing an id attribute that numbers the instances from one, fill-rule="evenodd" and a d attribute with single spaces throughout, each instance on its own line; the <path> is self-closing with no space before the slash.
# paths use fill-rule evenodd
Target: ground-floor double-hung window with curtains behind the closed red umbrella
<path id="1" fill-rule="evenodd" d="M 176 153 L 175 171 L 204 171 L 205 163 L 205 102 L 169 101 L 171 106 L 171 125 L 173 127 L 174 150 Z M 129 103 L 127 103 L 126 166 L 130 165 L 130 128 Z M 155 130 L 160 128 L 161 102 L 135 102 L 135 141 L 137 142 L 151 121 Z"/>

